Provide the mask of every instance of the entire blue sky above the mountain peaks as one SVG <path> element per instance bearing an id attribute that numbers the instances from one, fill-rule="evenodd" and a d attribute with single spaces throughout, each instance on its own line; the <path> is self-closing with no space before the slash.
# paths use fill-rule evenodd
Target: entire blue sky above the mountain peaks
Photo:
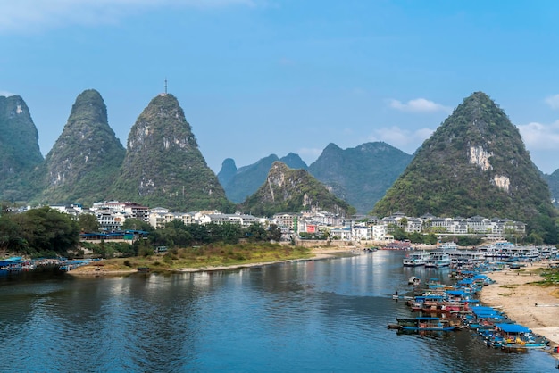
<path id="1" fill-rule="evenodd" d="M 21 95 L 48 153 L 94 88 L 123 145 L 149 101 L 179 99 L 208 165 L 330 143 L 413 153 L 483 91 L 532 161 L 559 168 L 555 1 L 0 1 L 0 95 Z"/>

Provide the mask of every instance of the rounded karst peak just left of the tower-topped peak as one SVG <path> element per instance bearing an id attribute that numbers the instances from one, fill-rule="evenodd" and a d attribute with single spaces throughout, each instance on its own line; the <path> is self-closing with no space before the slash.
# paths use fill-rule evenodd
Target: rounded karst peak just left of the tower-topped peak
<path id="1" fill-rule="evenodd" d="M 94 89 L 71 107 L 63 133 L 46 155 L 41 203 L 93 203 L 106 198 L 125 150 L 109 127 L 107 109 Z"/>

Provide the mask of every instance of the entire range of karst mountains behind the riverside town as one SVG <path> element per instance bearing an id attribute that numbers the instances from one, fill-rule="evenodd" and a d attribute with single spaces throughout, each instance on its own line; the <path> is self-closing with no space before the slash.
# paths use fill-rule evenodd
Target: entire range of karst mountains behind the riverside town
<path id="1" fill-rule="evenodd" d="M 273 209 L 330 205 L 353 211 L 353 206 L 361 213 L 374 207 L 380 215 L 399 210 L 409 215 L 481 214 L 530 221 L 550 218 L 553 211 L 549 188 L 530 161 L 520 133 L 480 92 L 466 98 L 414 158 L 385 143 L 345 150 L 330 144 L 308 167 L 295 153 L 282 158 L 271 154 L 239 169 L 227 159 L 217 176 L 173 95 L 157 95 L 147 104 L 130 128 L 124 149 L 109 126 L 101 95 L 84 91 L 45 160 L 23 99 L 0 97 L 0 111 L 4 201 L 87 204 L 120 199 L 175 211 L 234 211 L 234 203 L 243 202 L 237 208 L 257 211 L 251 203 L 259 201 L 276 203 Z M 557 178 L 546 178 L 551 190 L 559 189 L 553 186 Z M 277 182 L 280 179 L 292 182 L 288 186 Z M 267 195 L 270 190 L 273 197 Z M 282 194 L 286 198 L 278 204 Z M 332 203 L 335 198 L 347 205 Z M 271 204 L 268 207 L 263 210 L 273 210 Z M 547 218 L 539 224 L 546 225 Z"/>

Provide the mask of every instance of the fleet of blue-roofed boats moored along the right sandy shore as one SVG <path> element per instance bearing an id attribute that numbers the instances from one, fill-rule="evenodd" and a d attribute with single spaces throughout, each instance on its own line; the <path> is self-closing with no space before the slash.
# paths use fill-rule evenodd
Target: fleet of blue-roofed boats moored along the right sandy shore
<path id="1" fill-rule="evenodd" d="M 439 278 L 421 281 L 412 276 L 408 284 L 413 291 L 395 299 L 405 299 L 413 316 L 397 317 L 389 328 L 399 333 L 439 333 L 464 328 L 479 334 L 488 347 L 505 350 L 544 349 L 549 345 L 545 336 L 509 319 L 505 313 L 480 304 L 475 295 L 483 286 L 493 283 L 488 272 L 514 268 L 523 261 L 557 258 L 555 247 L 520 247 L 501 243 L 476 250 L 446 247 L 433 252 L 414 252 L 403 260 L 405 267 L 425 266 L 452 268 L 455 283 L 448 285 Z M 492 260 L 491 260 L 492 259 Z M 505 261 L 499 261 L 505 259 Z M 525 265 L 525 264 L 524 264 Z"/>

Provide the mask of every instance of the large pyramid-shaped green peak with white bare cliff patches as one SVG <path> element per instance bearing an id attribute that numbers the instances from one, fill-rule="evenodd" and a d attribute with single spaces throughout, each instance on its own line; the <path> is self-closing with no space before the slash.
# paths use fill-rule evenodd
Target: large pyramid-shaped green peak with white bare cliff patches
<path id="1" fill-rule="evenodd" d="M 394 211 L 520 220 L 556 241 L 546 182 L 518 129 L 482 92 L 465 98 L 423 143 L 373 213 Z"/>

